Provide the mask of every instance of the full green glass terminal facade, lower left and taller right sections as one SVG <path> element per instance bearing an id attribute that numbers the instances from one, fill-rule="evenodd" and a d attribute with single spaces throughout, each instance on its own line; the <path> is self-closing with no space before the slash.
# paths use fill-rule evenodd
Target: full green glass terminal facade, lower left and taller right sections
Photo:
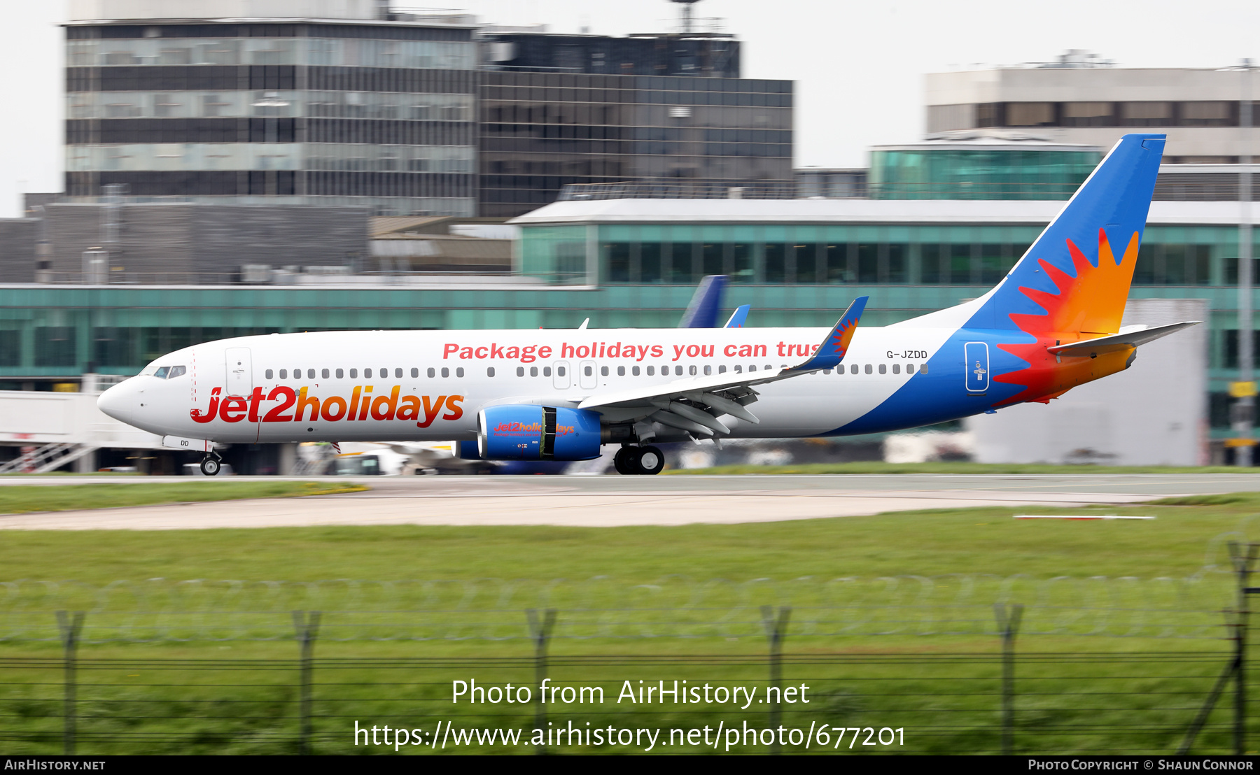
<path id="1" fill-rule="evenodd" d="M 716 272 L 732 276 L 726 308 L 752 306 L 748 326 L 830 326 L 863 294 L 872 298 L 863 322 L 885 326 L 983 294 L 1040 231 L 1037 225 L 532 225 L 523 228 L 519 264 L 523 274 L 547 281 L 543 286 L 8 286 L 0 287 L 0 386 L 83 371 L 135 374 L 171 350 L 249 333 L 575 328 L 586 317 L 592 328 L 668 328 L 678 325 L 698 278 Z M 1225 391 L 1236 377 L 1236 228 L 1148 226 L 1130 296 L 1208 301 L 1216 435 L 1227 434 Z"/>

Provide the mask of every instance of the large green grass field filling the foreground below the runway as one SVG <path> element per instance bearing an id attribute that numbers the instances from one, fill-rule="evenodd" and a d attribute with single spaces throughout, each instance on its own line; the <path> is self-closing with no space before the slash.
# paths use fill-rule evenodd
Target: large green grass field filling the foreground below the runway
<path id="1" fill-rule="evenodd" d="M 859 744 L 852 752 L 997 751 L 1000 667 L 999 639 L 992 627 L 948 634 L 919 620 L 907 624 L 921 610 L 950 610 L 964 589 L 974 604 L 965 615 L 985 622 L 992 620 L 990 605 L 998 599 L 1032 606 L 1028 629 L 1017 639 L 1017 752 L 1171 752 L 1223 667 L 1228 644 L 1212 634 L 1160 637 L 1158 628 L 1129 627 L 1111 609 L 1123 614 L 1142 608 L 1145 598 L 1166 594 L 1152 590 L 1167 590 L 1168 598 L 1152 603 L 1153 613 L 1144 615 L 1157 624 L 1167 616 L 1168 633 L 1186 618 L 1178 605 L 1188 604 L 1203 622 L 1218 622 L 1213 611 L 1232 604 L 1232 581 L 1222 572 L 1228 566 L 1225 542 L 1260 540 L 1260 525 L 1254 521 L 1260 493 L 1089 510 L 1152 515 L 1153 521 L 1017 521 L 1012 515 L 1018 511 L 682 527 L 10 531 L 0 542 L 4 579 L 82 584 L 60 584 L 54 590 L 28 581 L 4 588 L 0 627 L 38 619 L 45 622 L 43 635 L 49 640 L 18 634 L 0 642 L 0 708 L 9 708 L 0 711 L 0 739 L 14 754 L 60 750 L 60 650 L 52 622 L 53 610 L 67 608 L 87 611 L 88 642 L 79 649 L 81 658 L 126 661 L 93 662 L 79 671 L 79 752 L 296 751 L 299 652 L 289 610 L 316 606 L 302 596 L 309 588 L 262 583 L 343 580 L 330 581 L 335 594 L 319 601 L 326 613 L 315 647 L 316 752 L 393 752 L 384 746 L 357 749 L 350 732 L 355 721 L 422 730 L 432 730 L 438 721 L 454 721 L 460 728 L 528 727 L 533 706 L 452 707 L 451 682 L 478 678 L 530 684 L 534 649 L 523 637 L 524 609 L 543 600 L 559 609 L 561 637 L 549 645 L 557 663 L 549 674 L 561 684 L 604 686 L 609 696 L 597 707 L 554 705 L 549 712 L 558 725 L 573 721 L 586 728 L 590 721 L 605 727 L 689 730 L 747 721 L 764 727 L 769 718 L 764 705 L 630 707 L 612 697 L 622 681 L 638 686 L 640 679 L 746 684 L 764 691 L 767 644 L 759 632 L 757 606 L 794 604 L 784 681 L 809 684 L 816 705 L 785 706 L 784 725 L 905 730 L 903 747 L 863 749 Z M 1037 512 L 1055 510 L 1038 507 Z M 1155 581 L 1196 574 L 1203 580 L 1191 598 L 1176 591 L 1181 588 L 1172 581 Z M 925 586 L 915 576 L 930 579 L 935 591 L 924 598 Z M 1057 576 L 1080 580 L 1074 583 L 1080 589 L 1106 593 L 1063 600 L 1024 596 Z M 1090 588 L 1087 580 L 1095 576 L 1113 581 L 1105 586 L 1094 581 Z M 1119 580 L 1124 576 L 1135 580 Z M 912 594 L 890 591 L 890 583 L 881 577 L 900 579 L 897 589 Z M 218 583 L 214 589 L 219 591 L 197 596 L 186 591 L 193 586 L 176 584 L 192 579 L 234 580 L 237 586 Z M 369 586 L 344 581 L 354 579 L 447 583 Z M 568 581 L 554 581 L 559 579 Z M 132 585 L 115 584 L 113 591 L 102 593 L 120 580 Z M 712 580 L 731 584 L 708 584 Z M 184 596 L 159 600 L 129 591 L 146 584 L 185 590 L 178 593 Z M 205 584 L 197 589 L 208 589 Z M 704 601 L 712 604 L 708 608 L 690 603 L 689 595 L 701 588 L 708 595 Z M 806 609 L 823 598 L 839 611 L 849 610 L 844 606 L 850 603 L 873 601 L 882 606 L 879 615 L 888 627 L 820 635 Z M 203 622 L 220 623 L 222 632 L 208 627 L 197 635 L 195 627 L 176 623 L 174 614 L 190 603 L 208 606 L 204 610 L 212 613 Z M 1109 624 L 1100 629 L 1082 619 L 1085 608 L 1094 611 L 1090 615 L 1106 611 Z M 142 628 L 131 632 L 145 638 L 166 633 L 160 642 L 91 642 L 93 624 L 108 623 L 126 632 L 139 620 L 129 619 L 127 611 L 158 609 L 165 613 L 140 618 Z M 386 639 L 338 642 L 339 633 L 352 632 L 338 628 L 353 619 L 339 611 L 369 609 L 378 627 L 370 632 Z M 244 624 L 231 629 L 226 623 L 233 616 Z M 684 616 L 692 622 L 687 628 L 677 624 Z M 1063 630 L 1068 634 L 1028 634 L 1052 629 L 1055 616 L 1076 616 Z M 732 618 L 742 624 L 732 624 Z M 471 619 L 493 627 L 455 627 Z M 572 624 L 577 620 L 581 627 Z M 436 629 L 408 629 L 417 622 Z M 234 639 L 241 632 L 270 640 Z M 37 658 L 40 662 L 32 662 Z M 595 658 L 602 662 L 592 663 Z M 1213 713 L 1196 752 L 1225 751 L 1227 722 L 1225 708 Z M 1254 726 L 1252 733 L 1260 733 L 1260 725 Z M 804 750 L 801 745 L 785 749 Z M 427 746 L 404 750 L 432 751 Z M 474 742 L 449 746 L 445 752 L 456 750 L 532 751 Z M 658 752 L 697 750 L 704 749 L 656 747 Z M 766 747 L 740 742 L 732 750 L 764 752 Z"/>

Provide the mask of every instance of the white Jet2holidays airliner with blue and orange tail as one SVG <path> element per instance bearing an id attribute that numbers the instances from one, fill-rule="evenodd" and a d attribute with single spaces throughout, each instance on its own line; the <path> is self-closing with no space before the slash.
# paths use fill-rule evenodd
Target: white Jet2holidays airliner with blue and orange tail
<path id="1" fill-rule="evenodd" d="M 195 345 L 101 395 L 110 416 L 213 444 L 460 440 L 461 457 L 664 466 L 650 442 L 914 428 L 1048 401 L 1192 322 L 1120 328 L 1163 135 L 1126 135 L 983 297 L 887 327 L 354 331 Z"/>

